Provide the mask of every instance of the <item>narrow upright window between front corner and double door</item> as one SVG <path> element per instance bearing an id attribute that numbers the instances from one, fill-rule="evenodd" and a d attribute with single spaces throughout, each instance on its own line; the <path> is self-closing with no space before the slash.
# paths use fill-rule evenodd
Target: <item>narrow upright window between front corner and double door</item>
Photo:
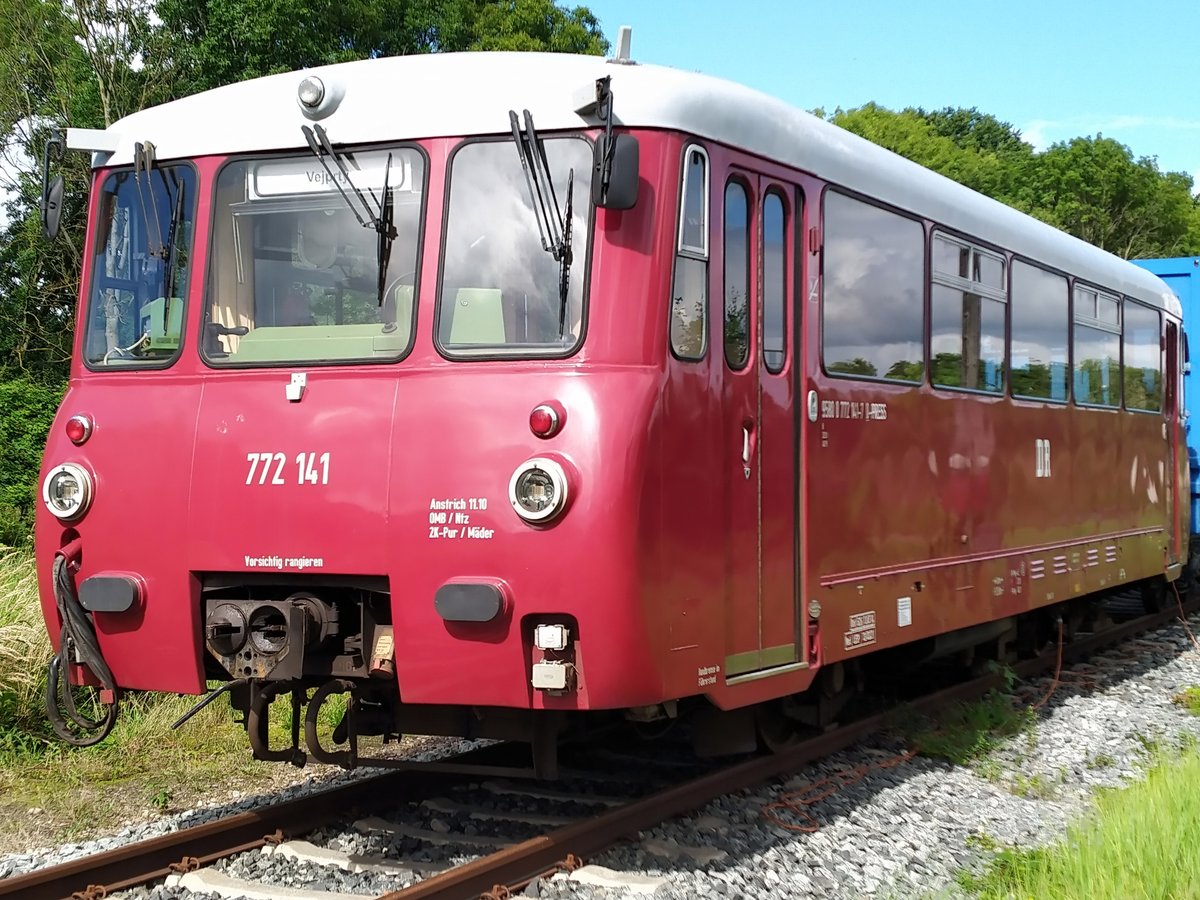
<path id="1" fill-rule="evenodd" d="M 671 349 L 701 359 L 708 344 L 708 154 L 684 152 L 679 242 L 671 288 Z"/>

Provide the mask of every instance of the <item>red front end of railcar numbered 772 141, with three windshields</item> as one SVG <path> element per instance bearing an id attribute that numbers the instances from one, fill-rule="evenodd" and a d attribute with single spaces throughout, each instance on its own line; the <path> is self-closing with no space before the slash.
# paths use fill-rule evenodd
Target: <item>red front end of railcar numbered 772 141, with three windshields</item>
<path id="1" fill-rule="evenodd" d="M 498 108 L 500 133 L 347 148 L 296 82 L 307 148 L 79 138 L 143 139 L 96 170 L 42 473 L 58 725 L 104 731 L 67 673 L 108 701 L 220 685 L 257 755 L 296 762 L 268 745 L 282 694 L 310 728 L 350 692 L 354 733 L 547 746 L 572 713 L 654 707 L 646 296 L 670 276 L 635 198 L 638 150 L 673 170 L 678 142 L 613 134 L 598 82 L 607 130 Z"/>

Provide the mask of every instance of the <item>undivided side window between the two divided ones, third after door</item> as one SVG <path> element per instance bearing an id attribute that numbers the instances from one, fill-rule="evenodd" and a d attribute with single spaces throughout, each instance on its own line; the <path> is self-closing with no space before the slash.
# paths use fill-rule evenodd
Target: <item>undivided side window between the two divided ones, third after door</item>
<path id="1" fill-rule="evenodd" d="M 1013 263 L 1013 396 L 1066 401 L 1070 292 L 1062 275 Z"/>

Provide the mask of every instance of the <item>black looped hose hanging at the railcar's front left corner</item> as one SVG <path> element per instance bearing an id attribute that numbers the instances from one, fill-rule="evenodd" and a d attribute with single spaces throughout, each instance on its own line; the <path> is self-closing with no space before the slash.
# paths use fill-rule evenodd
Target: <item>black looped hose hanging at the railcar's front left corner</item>
<path id="1" fill-rule="evenodd" d="M 53 587 L 62 630 L 59 632 L 59 652 L 50 660 L 46 678 L 46 713 L 54 733 L 65 742 L 74 746 L 91 746 L 107 738 L 116 724 L 116 680 L 100 652 L 91 616 L 79 602 L 71 578 L 71 568 L 62 553 L 54 557 Z M 76 706 L 70 676 L 64 674 L 71 665 L 72 654 L 77 655 L 80 665 L 91 671 L 102 690 L 112 696 L 102 719 L 89 719 Z M 68 719 L 74 727 L 68 724 Z"/>

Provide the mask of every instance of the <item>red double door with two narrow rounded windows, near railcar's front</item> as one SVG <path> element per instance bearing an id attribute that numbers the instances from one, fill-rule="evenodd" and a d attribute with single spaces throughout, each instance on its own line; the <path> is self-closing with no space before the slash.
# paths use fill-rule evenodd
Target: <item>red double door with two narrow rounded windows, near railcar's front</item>
<path id="1" fill-rule="evenodd" d="M 743 169 L 731 169 L 716 190 L 722 264 L 714 266 L 713 298 L 731 515 L 725 673 L 734 679 L 803 662 L 805 654 L 797 613 L 796 348 L 788 340 L 797 193 Z"/>

